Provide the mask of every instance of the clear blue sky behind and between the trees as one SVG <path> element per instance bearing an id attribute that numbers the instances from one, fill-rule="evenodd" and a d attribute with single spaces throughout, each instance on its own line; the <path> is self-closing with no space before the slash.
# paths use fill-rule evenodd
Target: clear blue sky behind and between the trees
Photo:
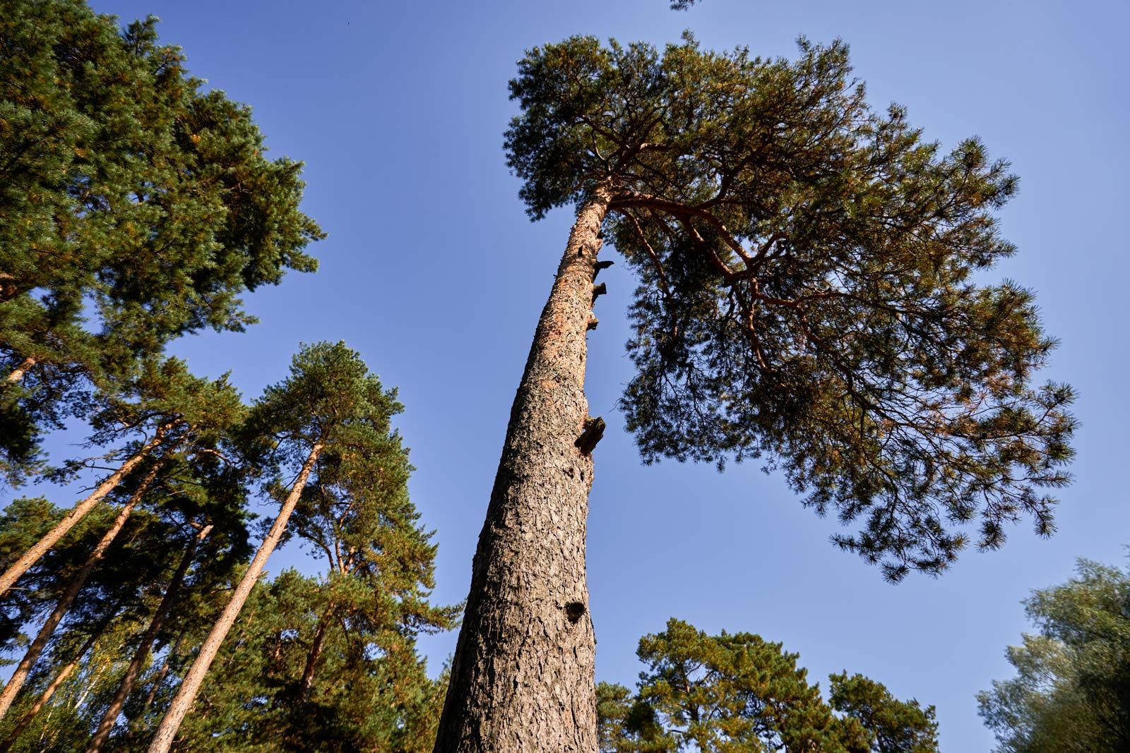
<path id="1" fill-rule="evenodd" d="M 636 640 L 679 616 L 758 632 L 799 651 L 826 685 L 846 668 L 935 703 L 947 751 L 984 751 L 974 694 L 1009 675 L 1026 629 L 1019 601 L 1074 559 L 1123 560 L 1130 542 L 1123 428 L 1130 423 L 1127 306 L 1125 2 L 667 0 L 570 2 L 168 2 L 95 0 L 123 20 L 155 14 L 209 86 L 252 105 L 272 155 L 306 161 L 305 210 L 329 231 L 322 269 L 249 298 L 245 334 L 176 344 L 194 370 L 234 373 L 252 397 L 299 341 L 344 339 L 407 411 L 411 491 L 440 544 L 436 599 L 467 594 L 513 391 L 571 216 L 530 224 L 502 154 L 506 81 L 525 47 L 575 33 L 657 44 L 690 28 L 704 46 L 792 55 L 842 37 L 873 105 L 892 100 L 949 147 L 980 134 L 1012 160 L 1003 212 L 1019 255 L 990 277 L 1038 291 L 1061 338 L 1045 377 L 1081 400 L 1077 483 L 1059 533 L 1020 525 L 1002 551 L 967 552 L 946 576 L 899 586 L 828 544 L 837 529 L 754 465 L 640 464 L 616 400 L 631 375 L 633 281 L 605 273 L 590 336 L 598 448 L 589 583 L 601 680 L 632 684 Z M 1121 50 L 1121 52 L 1120 52 Z M 607 249 L 606 255 L 615 257 Z M 62 500 L 60 500 L 62 501 Z M 264 510 L 267 511 L 267 510 Z M 269 566 L 303 563 L 292 544 Z M 310 569 L 308 562 L 303 563 Z M 453 633 L 427 638 L 433 671 Z"/>

